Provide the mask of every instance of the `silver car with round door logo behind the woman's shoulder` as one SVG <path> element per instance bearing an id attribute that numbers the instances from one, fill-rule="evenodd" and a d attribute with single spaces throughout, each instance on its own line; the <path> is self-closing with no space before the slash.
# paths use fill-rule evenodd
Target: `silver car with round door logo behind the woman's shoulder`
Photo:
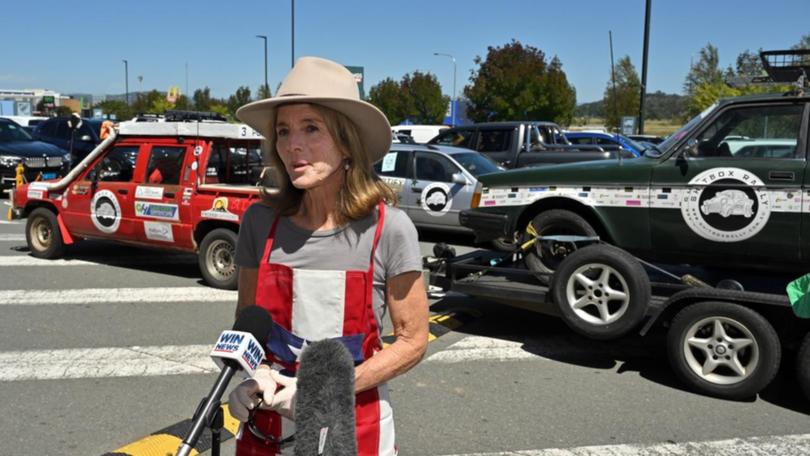
<path id="1" fill-rule="evenodd" d="M 470 149 L 419 144 L 394 144 L 374 169 L 414 225 L 457 232 L 470 232 L 458 213 L 470 208 L 478 176 L 503 170 Z"/>

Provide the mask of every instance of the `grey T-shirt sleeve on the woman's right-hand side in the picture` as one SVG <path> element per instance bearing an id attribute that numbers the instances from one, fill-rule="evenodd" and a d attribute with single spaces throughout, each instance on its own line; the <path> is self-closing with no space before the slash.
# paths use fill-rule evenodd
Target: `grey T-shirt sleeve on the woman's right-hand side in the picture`
<path id="1" fill-rule="evenodd" d="M 380 248 L 386 279 L 405 272 L 422 270 L 419 235 L 411 219 L 402 210 L 385 208 Z"/>

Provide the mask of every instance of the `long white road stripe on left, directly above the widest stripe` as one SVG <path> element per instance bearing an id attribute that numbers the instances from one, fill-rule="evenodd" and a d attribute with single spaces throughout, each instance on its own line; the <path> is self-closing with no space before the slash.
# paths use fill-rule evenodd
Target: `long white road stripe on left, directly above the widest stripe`
<path id="1" fill-rule="evenodd" d="M 208 287 L 0 290 L 0 306 L 119 302 L 236 302 L 236 291 Z"/>

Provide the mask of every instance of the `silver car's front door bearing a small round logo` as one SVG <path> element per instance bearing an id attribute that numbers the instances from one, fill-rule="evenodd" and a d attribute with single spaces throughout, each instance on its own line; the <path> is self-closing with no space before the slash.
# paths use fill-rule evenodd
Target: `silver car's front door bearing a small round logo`
<path id="1" fill-rule="evenodd" d="M 470 207 L 467 184 L 453 182 L 461 169 L 438 152 L 416 151 L 411 193 L 416 201 L 409 215 L 415 224 L 434 228 L 459 227 L 458 213 Z"/>

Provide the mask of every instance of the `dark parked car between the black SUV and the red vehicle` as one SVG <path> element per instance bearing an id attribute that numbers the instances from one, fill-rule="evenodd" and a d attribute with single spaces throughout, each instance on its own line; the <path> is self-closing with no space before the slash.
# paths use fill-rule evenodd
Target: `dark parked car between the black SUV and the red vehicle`
<path id="1" fill-rule="evenodd" d="M 51 117 L 41 122 L 34 128 L 33 137 L 72 152 L 73 163 L 78 163 L 101 142 L 99 133 L 103 120 L 83 118 L 79 128 L 73 130 L 68 125 L 68 119 L 69 117 Z"/>

